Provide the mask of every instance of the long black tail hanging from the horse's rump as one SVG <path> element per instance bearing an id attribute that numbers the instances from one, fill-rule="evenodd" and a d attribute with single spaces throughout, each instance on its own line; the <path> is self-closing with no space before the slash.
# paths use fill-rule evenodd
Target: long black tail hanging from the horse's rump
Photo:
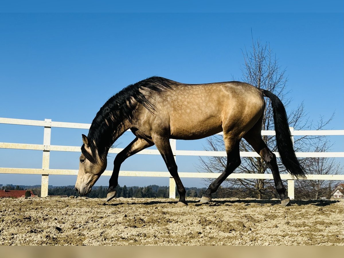
<path id="1" fill-rule="evenodd" d="M 282 101 L 273 93 L 260 89 L 265 97 L 271 100 L 273 120 L 275 121 L 277 148 L 283 165 L 296 178 L 306 178 L 303 169 L 295 156 L 291 133 L 288 126 L 286 109 Z"/>

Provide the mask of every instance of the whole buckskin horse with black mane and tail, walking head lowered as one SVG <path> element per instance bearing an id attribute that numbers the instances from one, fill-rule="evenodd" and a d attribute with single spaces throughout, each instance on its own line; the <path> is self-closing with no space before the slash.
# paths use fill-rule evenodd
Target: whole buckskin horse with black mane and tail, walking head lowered
<path id="1" fill-rule="evenodd" d="M 276 155 L 261 138 L 264 97 L 271 100 L 282 163 L 292 176 L 304 178 L 295 157 L 286 110 L 276 95 L 243 82 L 183 84 L 154 76 L 127 86 L 100 108 L 88 136 L 82 135 L 84 144 L 75 190 L 80 195 L 92 190 L 106 169 L 110 147 L 130 129 L 136 138 L 116 155 L 107 201 L 116 196 L 122 162 L 155 144 L 175 180 L 180 197 L 176 205 L 186 206 L 185 188 L 178 175 L 169 139 L 201 139 L 223 131 L 226 169 L 209 185 L 200 202 L 211 201 L 212 193 L 240 165 L 239 142 L 244 138 L 271 169 L 281 204 L 286 206 L 290 199 L 282 184 Z"/>

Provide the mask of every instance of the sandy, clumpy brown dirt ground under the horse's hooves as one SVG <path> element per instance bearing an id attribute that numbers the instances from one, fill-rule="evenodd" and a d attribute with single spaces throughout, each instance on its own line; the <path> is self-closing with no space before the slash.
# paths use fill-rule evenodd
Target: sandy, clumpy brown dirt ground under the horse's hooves
<path id="1" fill-rule="evenodd" d="M 0 199 L 0 245 L 344 245 L 344 201 Z"/>

